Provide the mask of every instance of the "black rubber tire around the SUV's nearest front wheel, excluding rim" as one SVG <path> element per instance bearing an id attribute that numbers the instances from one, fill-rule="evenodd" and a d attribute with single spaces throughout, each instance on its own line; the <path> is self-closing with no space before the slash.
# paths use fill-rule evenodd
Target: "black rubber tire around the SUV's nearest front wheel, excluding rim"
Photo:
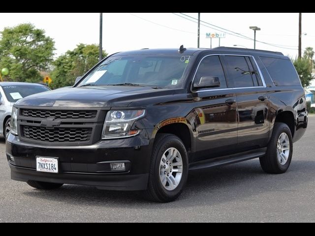
<path id="1" fill-rule="evenodd" d="M 174 190 L 167 190 L 162 186 L 159 176 L 160 160 L 163 153 L 168 148 L 176 148 L 183 162 L 182 178 L 179 185 Z M 188 154 L 182 141 L 175 135 L 160 134 L 154 145 L 152 160 L 150 165 L 148 191 L 150 191 L 151 199 L 158 202 L 170 202 L 175 200 L 183 191 L 188 176 Z"/>

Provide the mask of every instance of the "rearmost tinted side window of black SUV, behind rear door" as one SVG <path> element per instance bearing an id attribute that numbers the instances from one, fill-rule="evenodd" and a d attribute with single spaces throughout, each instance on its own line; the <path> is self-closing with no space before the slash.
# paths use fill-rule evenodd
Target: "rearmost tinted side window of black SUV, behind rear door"
<path id="1" fill-rule="evenodd" d="M 260 57 L 276 86 L 301 86 L 290 60 Z"/>

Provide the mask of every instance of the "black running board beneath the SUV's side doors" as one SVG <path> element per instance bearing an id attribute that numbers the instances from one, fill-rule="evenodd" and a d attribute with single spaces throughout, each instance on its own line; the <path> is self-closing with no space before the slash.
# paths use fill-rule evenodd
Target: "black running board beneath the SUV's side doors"
<path id="1" fill-rule="evenodd" d="M 189 164 L 189 171 L 205 169 L 215 166 L 233 164 L 261 157 L 266 154 L 267 148 L 259 148 L 251 151 L 240 152 L 237 154 L 216 157 L 208 160 L 197 161 Z"/>

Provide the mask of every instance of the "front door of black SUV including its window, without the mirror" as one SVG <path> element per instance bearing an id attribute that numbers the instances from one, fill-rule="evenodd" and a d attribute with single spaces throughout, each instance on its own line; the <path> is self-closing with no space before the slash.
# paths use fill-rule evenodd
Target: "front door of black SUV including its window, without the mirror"
<path id="1" fill-rule="evenodd" d="M 196 71 L 194 81 L 201 77 L 218 77 L 220 87 L 194 91 L 194 161 L 227 155 L 237 143 L 236 96 L 228 89 L 219 56 L 206 56 Z"/>

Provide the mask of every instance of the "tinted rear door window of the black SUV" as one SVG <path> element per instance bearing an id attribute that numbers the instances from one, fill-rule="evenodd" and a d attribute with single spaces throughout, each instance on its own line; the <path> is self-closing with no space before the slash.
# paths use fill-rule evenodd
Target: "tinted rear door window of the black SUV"
<path id="1" fill-rule="evenodd" d="M 226 68 L 235 88 L 257 86 L 257 78 L 248 57 L 225 56 Z M 250 68 L 251 66 L 251 68 Z M 254 83 L 255 82 L 255 83 Z"/>

